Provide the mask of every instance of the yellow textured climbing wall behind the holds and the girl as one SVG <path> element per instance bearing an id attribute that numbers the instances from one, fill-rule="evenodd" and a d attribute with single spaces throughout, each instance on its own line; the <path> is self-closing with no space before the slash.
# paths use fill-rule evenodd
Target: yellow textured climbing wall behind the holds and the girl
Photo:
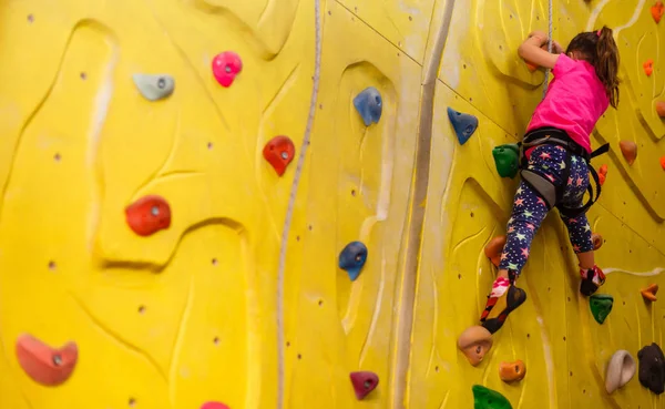
<path id="1" fill-rule="evenodd" d="M 663 341 L 665 308 L 640 294 L 665 285 L 654 3 L 553 1 L 562 44 L 607 24 L 621 50 L 622 101 L 593 135 L 612 146 L 594 161 L 607 182 L 590 213 L 614 309 L 593 319 L 552 214 L 524 270 L 528 301 L 473 368 L 456 341 L 484 306 L 482 249 L 504 233 L 516 184 L 491 149 L 518 141 L 541 99 L 544 73 L 516 48 L 548 30 L 546 1 L 0 2 L 0 409 L 463 409 L 474 384 L 513 408 L 664 407 L 636 377 L 604 391 L 616 349 Z M 224 51 L 243 61 L 228 88 L 211 69 Z M 175 91 L 147 101 L 135 73 L 172 75 Z M 365 126 L 354 98 L 368 86 L 383 106 Z M 463 146 L 448 106 L 480 121 Z M 296 146 L 283 176 L 263 156 L 277 135 Z M 632 166 L 620 140 L 638 145 Z M 147 195 L 168 203 L 171 225 L 139 236 L 125 207 Z M 369 256 L 351 282 L 337 263 L 354 241 Z M 22 335 L 42 358 L 75 342 L 64 382 L 28 375 Z M 502 384 L 499 364 L 515 359 L 526 378 Z M 380 379 L 364 401 L 358 370 Z"/>

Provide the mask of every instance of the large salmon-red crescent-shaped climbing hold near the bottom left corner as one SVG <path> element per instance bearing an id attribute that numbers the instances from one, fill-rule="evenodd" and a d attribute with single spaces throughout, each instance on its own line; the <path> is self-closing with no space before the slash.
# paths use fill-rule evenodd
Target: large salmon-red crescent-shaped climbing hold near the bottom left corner
<path id="1" fill-rule="evenodd" d="M 52 348 L 41 340 L 21 335 L 16 345 L 19 365 L 32 380 L 43 386 L 58 386 L 72 375 L 79 359 L 79 348 L 68 342 Z"/>

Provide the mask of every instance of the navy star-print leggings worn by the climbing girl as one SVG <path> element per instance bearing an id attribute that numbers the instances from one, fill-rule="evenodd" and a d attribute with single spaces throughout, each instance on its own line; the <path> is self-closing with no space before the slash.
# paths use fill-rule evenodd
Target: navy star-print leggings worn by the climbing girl
<path id="1" fill-rule="evenodd" d="M 565 156 L 570 153 L 555 145 L 539 145 L 531 150 L 529 155 L 529 167 L 532 166 L 543 171 L 554 178 L 554 184 L 561 186 L 565 183 L 563 203 L 566 207 L 581 207 L 584 193 L 589 186 L 589 168 L 581 156 L 571 157 L 571 173 L 567 181 L 563 181 L 563 167 Z M 545 202 L 524 182 L 515 193 L 513 209 L 508 221 L 508 234 L 503 254 L 501 255 L 500 269 L 508 269 L 519 276 L 526 264 L 531 242 L 541 223 L 548 215 Z M 593 249 L 591 241 L 591 227 L 586 215 L 582 214 L 575 218 L 561 215 L 569 232 L 569 237 L 575 253 L 586 253 Z"/>

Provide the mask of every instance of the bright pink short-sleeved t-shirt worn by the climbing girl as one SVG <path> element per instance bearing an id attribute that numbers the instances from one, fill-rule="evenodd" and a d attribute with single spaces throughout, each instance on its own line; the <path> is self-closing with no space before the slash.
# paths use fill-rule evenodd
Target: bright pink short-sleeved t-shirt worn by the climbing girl
<path id="1" fill-rule="evenodd" d="M 591 153 L 591 132 L 610 105 L 605 88 L 592 64 L 565 54 L 559 55 L 552 74 L 554 79 L 531 116 L 526 132 L 557 127 Z"/>

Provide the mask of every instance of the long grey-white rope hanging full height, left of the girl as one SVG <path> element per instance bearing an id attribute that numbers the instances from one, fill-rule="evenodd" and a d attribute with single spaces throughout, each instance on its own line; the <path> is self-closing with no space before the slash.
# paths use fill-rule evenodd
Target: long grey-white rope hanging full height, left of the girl
<path id="1" fill-rule="evenodd" d="M 314 116 L 316 113 L 316 101 L 318 98 L 319 75 L 321 68 L 321 18 L 320 18 L 320 0 L 314 1 L 314 24 L 315 24 L 315 58 L 314 58 L 314 78 L 311 85 L 311 99 L 309 101 L 309 116 L 307 117 L 307 126 L 305 127 L 305 136 L 303 137 L 303 144 L 300 146 L 300 154 L 298 155 L 298 163 L 294 173 L 294 181 L 291 183 L 290 195 L 288 198 L 288 206 L 286 208 L 286 217 L 284 219 L 284 228 L 282 231 L 282 243 L 279 245 L 279 264 L 277 269 L 277 409 L 284 407 L 284 388 L 285 388 L 285 357 L 284 357 L 284 269 L 286 267 L 286 250 L 288 247 L 288 233 L 290 231 L 291 221 L 294 218 L 294 206 L 296 203 L 296 195 L 298 193 L 298 185 L 300 182 L 300 174 L 303 173 L 303 165 L 305 163 L 305 155 L 307 147 L 309 146 L 309 139 L 311 136 L 311 126 L 314 124 Z"/>

